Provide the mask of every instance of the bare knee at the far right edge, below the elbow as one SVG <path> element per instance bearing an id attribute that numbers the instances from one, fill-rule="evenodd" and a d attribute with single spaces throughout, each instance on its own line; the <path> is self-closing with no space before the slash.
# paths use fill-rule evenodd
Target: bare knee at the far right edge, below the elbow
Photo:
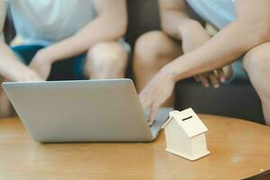
<path id="1" fill-rule="evenodd" d="M 270 73 L 270 57 L 259 49 L 251 49 L 243 59 L 244 67 L 249 76 L 263 77 Z"/>

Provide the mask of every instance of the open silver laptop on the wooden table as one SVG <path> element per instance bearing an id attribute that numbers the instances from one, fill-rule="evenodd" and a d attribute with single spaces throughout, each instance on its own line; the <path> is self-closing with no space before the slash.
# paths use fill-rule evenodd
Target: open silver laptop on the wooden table
<path id="1" fill-rule="evenodd" d="M 40 142 L 152 141 L 171 109 L 149 128 L 130 79 L 8 82 L 4 91 Z"/>

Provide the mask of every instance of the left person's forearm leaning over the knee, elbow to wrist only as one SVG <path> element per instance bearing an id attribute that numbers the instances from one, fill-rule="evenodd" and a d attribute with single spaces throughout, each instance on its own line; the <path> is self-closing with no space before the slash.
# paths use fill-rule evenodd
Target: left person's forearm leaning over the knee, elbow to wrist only
<path id="1" fill-rule="evenodd" d="M 59 59 L 70 58 L 84 53 L 97 42 L 121 38 L 125 32 L 125 26 L 126 23 L 124 21 L 119 22 L 117 19 L 112 20 L 111 17 L 102 15 L 85 26 L 84 29 L 78 31 L 75 35 L 66 40 L 58 41 L 48 48 L 43 49 L 43 51 L 52 62 Z"/>

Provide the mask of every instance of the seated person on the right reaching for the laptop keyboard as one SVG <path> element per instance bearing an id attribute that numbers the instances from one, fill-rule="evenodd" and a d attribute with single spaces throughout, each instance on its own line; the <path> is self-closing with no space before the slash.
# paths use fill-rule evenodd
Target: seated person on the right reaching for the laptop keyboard
<path id="1" fill-rule="evenodd" d="M 151 111 L 149 121 L 173 94 L 177 81 L 199 75 L 202 84 L 207 86 L 210 79 L 218 86 L 225 76 L 214 69 L 243 57 L 243 67 L 234 69 L 233 76 L 247 72 L 270 125 L 270 2 L 159 0 L 159 7 L 162 31 L 139 37 L 134 55 L 137 85 L 142 89 L 139 97 L 144 109 Z M 202 24 L 187 14 L 188 7 L 218 33 L 210 37 Z"/>

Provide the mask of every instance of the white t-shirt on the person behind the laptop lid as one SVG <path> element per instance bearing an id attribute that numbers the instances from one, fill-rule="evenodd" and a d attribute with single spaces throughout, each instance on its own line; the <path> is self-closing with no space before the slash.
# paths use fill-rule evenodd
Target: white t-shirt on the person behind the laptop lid
<path id="1" fill-rule="evenodd" d="M 63 40 L 96 16 L 92 0 L 8 0 L 8 4 L 23 44 Z"/>

